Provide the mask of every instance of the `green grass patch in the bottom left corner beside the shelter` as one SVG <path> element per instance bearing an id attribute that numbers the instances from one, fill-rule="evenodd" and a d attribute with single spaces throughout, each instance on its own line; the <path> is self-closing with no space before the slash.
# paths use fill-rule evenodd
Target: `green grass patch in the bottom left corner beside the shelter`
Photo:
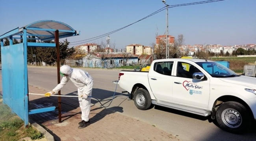
<path id="1" fill-rule="evenodd" d="M 32 126 L 24 127 L 24 121 L 11 113 L 10 108 L 2 103 L 0 96 L 0 141 L 18 141 L 24 137 L 32 140 L 43 138 L 43 134 Z"/>

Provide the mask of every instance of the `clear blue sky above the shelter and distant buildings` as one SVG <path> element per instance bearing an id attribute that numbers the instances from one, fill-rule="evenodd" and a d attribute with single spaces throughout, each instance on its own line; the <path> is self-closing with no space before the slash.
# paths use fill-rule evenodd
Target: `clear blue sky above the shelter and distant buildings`
<path id="1" fill-rule="evenodd" d="M 205 0 L 166 0 L 166 4 L 199 1 Z M 0 35 L 39 20 L 56 20 L 80 31 L 79 36 L 67 38 L 70 47 L 106 43 L 106 36 L 91 42 L 77 41 L 115 31 L 165 7 L 161 0 L 0 0 L 0 4 Z M 256 0 L 224 0 L 169 8 L 169 35 L 177 38 L 183 34 L 185 45 L 256 43 L 255 5 Z M 163 10 L 110 34 L 110 44 L 120 49 L 133 43 L 152 46 L 156 34 L 165 32 Z"/>

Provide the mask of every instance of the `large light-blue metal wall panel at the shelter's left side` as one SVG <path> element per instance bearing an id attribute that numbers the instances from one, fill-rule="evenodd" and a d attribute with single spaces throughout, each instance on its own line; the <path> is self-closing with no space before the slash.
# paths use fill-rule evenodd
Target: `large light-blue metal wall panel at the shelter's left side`
<path id="1" fill-rule="evenodd" d="M 1 47 L 3 100 L 15 114 L 25 119 L 23 43 Z"/>

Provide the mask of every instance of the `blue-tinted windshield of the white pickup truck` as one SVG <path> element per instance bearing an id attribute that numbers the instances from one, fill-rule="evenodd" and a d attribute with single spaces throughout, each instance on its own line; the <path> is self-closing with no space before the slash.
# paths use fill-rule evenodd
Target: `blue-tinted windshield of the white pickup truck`
<path id="1" fill-rule="evenodd" d="M 217 62 L 198 62 L 197 64 L 215 78 L 229 78 L 241 76 Z"/>

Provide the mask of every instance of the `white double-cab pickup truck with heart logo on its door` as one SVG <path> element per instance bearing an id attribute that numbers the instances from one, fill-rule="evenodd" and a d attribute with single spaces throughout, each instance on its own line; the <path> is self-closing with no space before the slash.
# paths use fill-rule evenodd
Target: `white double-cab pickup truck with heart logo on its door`
<path id="1" fill-rule="evenodd" d="M 210 116 L 227 132 L 240 134 L 256 120 L 256 78 L 201 59 L 154 60 L 148 72 L 121 71 L 119 86 L 137 108 L 160 105 Z"/>

